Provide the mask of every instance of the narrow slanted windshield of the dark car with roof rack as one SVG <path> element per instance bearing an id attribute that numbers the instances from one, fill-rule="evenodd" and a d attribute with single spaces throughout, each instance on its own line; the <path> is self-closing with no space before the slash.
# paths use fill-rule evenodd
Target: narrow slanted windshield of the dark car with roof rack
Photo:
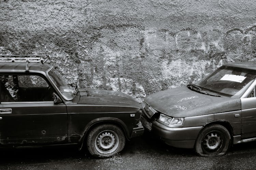
<path id="1" fill-rule="evenodd" d="M 72 100 L 75 94 L 75 88 L 69 85 L 68 81 L 63 78 L 54 68 L 48 71 L 48 75 L 59 89 L 61 95 L 66 100 Z"/>

